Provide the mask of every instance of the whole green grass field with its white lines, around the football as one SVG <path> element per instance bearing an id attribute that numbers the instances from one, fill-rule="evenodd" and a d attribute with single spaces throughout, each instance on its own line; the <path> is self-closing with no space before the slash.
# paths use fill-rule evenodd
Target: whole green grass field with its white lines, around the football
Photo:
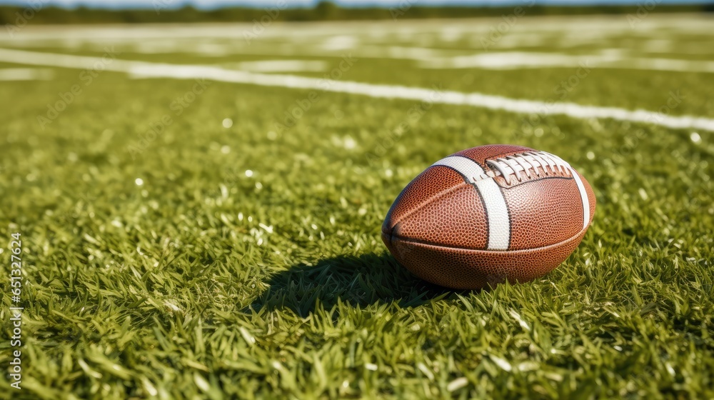
<path id="1" fill-rule="evenodd" d="M 0 397 L 714 398 L 714 20 L 502 22 L 2 34 Z M 493 143 L 570 162 L 593 224 L 538 281 L 426 284 L 382 219 Z"/>

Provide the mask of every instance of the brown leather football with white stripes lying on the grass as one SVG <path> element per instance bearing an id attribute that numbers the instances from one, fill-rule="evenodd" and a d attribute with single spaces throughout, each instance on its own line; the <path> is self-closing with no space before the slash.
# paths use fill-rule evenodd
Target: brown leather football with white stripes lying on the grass
<path id="1" fill-rule="evenodd" d="M 382 240 L 417 276 L 453 289 L 539 278 L 565 261 L 595 194 L 545 151 L 493 144 L 436 161 L 399 194 Z"/>

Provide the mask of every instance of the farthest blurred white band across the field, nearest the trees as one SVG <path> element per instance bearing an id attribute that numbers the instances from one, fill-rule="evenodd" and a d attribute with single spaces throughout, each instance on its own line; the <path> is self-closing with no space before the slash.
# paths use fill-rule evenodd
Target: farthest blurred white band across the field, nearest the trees
<path id="1" fill-rule="evenodd" d="M 526 15 L 528 13 L 526 12 Z M 673 34 L 711 35 L 714 17 L 707 14 L 650 14 L 633 29 L 626 16 L 526 16 L 508 29 L 508 34 L 561 34 L 563 36 L 609 37 L 616 34 L 657 34 L 671 38 Z M 323 21 L 280 22 L 267 26 L 258 39 L 268 38 L 332 38 L 357 36 L 374 38 L 386 35 L 439 34 L 446 41 L 473 34 L 488 34 L 503 23 L 503 17 L 473 19 L 400 19 L 398 21 Z M 13 35 L 0 30 L 0 41 L 100 40 L 127 42 L 149 39 L 240 39 L 251 32 L 253 23 L 214 24 L 109 24 L 109 25 L 49 25 L 29 26 Z M 339 39 L 343 41 L 343 39 Z"/>

